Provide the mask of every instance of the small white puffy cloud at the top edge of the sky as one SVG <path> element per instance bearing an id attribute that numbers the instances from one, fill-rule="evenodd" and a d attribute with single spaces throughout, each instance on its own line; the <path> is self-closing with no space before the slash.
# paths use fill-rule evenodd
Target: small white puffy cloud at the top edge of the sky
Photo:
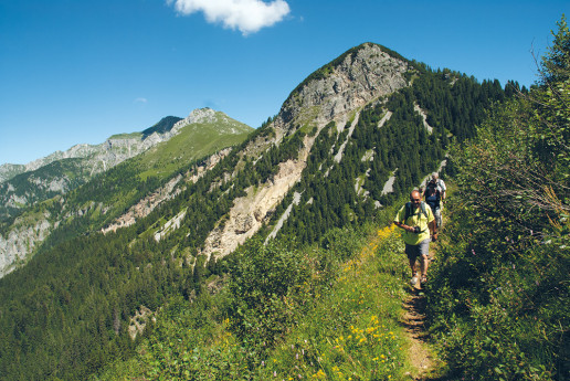
<path id="1" fill-rule="evenodd" d="M 244 35 L 271 27 L 289 13 L 285 0 L 167 0 L 175 3 L 180 14 L 202 11 L 208 22 L 221 22 L 224 28 L 238 29 Z"/>

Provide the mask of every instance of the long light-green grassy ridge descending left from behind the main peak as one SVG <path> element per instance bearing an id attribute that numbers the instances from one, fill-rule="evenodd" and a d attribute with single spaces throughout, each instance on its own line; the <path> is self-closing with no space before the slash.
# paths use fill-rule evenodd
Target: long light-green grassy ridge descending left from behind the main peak
<path id="1" fill-rule="evenodd" d="M 212 112 L 212 115 L 215 116 L 215 113 Z M 63 195 L 59 202 L 50 202 L 48 208 L 36 204 L 21 216 L 8 221 L 2 226 L 1 253 L 9 251 L 10 245 L 18 241 L 10 226 L 15 226 L 18 221 L 25 221 L 27 213 L 36 214 L 39 210 L 45 210 L 43 214 L 48 215 L 44 235 L 48 235 L 50 246 L 50 242 L 57 242 L 62 237 L 99 230 L 179 172 L 191 170 L 205 156 L 240 144 L 252 130 L 236 121 L 231 121 L 228 128 L 224 125 L 228 121 L 220 125 L 221 120 L 226 119 L 218 117 L 211 123 L 183 127 L 170 140 L 97 174 L 92 181 Z M 55 235 L 50 237 L 50 234 Z M 38 246 L 39 243 L 41 241 L 33 245 Z M 19 250 L 20 258 L 30 256 L 30 250 L 24 252 L 24 247 Z"/>

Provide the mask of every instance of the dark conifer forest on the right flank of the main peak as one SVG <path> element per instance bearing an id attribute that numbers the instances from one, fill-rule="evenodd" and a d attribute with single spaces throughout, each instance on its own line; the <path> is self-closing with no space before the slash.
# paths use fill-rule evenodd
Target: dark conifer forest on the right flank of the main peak
<path id="1" fill-rule="evenodd" d="M 450 140 L 463 141 L 473 136 L 485 109 L 507 97 L 507 91 L 497 81 L 479 84 L 458 73 L 451 75 L 448 71 L 432 71 L 424 65 L 419 68 L 422 74 L 412 87 L 365 107 L 348 140 L 348 126 L 338 134 L 331 123 L 320 131 L 303 178 L 294 189 L 302 194 L 300 202 L 293 208 L 281 235 L 295 242 L 313 243 L 329 229 L 370 219 L 376 213 L 374 200 L 390 205 L 408 194 L 439 168 Z M 507 88 L 511 86 L 520 91 L 518 84 L 509 83 Z M 415 104 L 423 105 L 426 119 L 433 121 L 432 134 L 414 110 Z M 378 127 L 387 113 L 391 113 L 390 119 Z M 348 144 L 337 163 L 334 157 L 345 140 Z M 362 160 L 365 157 L 370 159 Z M 328 174 L 324 177 L 327 169 Z M 392 174 L 395 177 L 393 189 L 383 193 L 383 186 Z M 356 179 L 363 180 L 361 192 L 367 191 L 370 197 L 359 194 Z M 282 203 L 275 219 L 292 201 L 293 193 Z"/>

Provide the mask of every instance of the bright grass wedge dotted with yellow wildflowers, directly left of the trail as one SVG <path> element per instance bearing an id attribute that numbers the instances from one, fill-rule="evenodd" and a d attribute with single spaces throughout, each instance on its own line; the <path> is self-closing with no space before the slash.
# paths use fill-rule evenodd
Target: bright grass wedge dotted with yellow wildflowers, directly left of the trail
<path id="1" fill-rule="evenodd" d="M 390 380 L 409 366 L 399 324 L 404 290 L 401 278 L 379 272 L 394 264 L 392 229 L 341 266 L 337 284 L 316 305 L 260 369 L 263 379 Z M 405 272 L 395 263 L 393 273 Z M 392 273 L 392 272 L 391 272 Z M 309 287 L 309 285 L 305 285 Z M 305 290 L 310 293 L 309 289 Z"/>

